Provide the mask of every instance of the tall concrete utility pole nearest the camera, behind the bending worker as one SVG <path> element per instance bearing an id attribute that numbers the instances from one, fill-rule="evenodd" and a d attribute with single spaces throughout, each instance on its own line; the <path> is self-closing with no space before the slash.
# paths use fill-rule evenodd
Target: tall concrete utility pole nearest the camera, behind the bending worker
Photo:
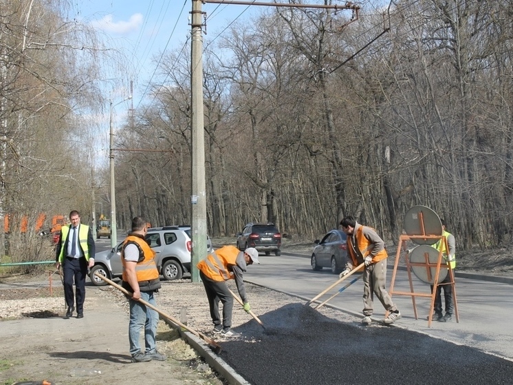
<path id="1" fill-rule="evenodd" d="M 193 0 L 192 39 L 190 43 L 190 98 L 192 103 L 192 207 L 191 231 L 193 251 L 190 263 L 190 275 L 193 282 L 199 282 L 198 262 L 207 255 L 206 249 L 206 187 L 205 187 L 205 138 L 203 116 L 203 36 L 201 1 Z"/>

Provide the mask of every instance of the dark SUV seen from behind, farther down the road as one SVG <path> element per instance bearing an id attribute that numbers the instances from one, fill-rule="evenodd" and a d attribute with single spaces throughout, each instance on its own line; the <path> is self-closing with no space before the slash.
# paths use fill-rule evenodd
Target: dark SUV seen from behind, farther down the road
<path id="1" fill-rule="evenodd" d="M 237 234 L 237 249 L 244 251 L 248 247 L 263 251 L 266 256 L 269 256 L 271 251 L 279 256 L 281 255 L 281 233 L 274 223 L 248 223 Z"/>

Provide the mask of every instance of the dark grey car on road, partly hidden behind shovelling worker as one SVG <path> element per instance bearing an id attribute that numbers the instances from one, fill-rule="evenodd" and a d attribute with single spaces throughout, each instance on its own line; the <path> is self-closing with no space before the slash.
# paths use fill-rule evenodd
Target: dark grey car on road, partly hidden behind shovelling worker
<path id="1" fill-rule="evenodd" d="M 329 231 L 323 240 L 315 240 L 317 244 L 312 252 L 310 264 L 312 269 L 320 271 L 329 267 L 331 273 L 342 271 L 347 262 L 347 235 L 344 231 L 334 229 Z"/>

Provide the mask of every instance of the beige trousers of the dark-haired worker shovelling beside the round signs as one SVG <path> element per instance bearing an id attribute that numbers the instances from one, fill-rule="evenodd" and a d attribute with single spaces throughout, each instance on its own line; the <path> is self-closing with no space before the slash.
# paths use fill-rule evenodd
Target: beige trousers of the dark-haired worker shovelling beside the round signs
<path id="1" fill-rule="evenodd" d="M 385 289 L 386 283 L 386 258 L 366 267 L 362 274 L 363 280 L 363 315 L 371 316 L 374 295 L 380 300 L 386 311 L 396 311 L 397 306 L 392 302 L 389 293 Z"/>

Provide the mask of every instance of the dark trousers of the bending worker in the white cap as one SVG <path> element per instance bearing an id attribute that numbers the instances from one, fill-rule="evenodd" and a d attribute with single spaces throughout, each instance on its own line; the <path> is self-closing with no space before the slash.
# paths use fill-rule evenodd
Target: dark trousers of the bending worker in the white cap
<path id="1" fill-rule="evenodd" d="M 225 328 L 232 326 L 232 310 L 233 310 L 233 296 L 228 290 L 226 282 L 217 282 L 207 278 L 204 273 L 199 271 L 201 281 L 205 287 L 206 296 L 208 298 L 208 306 L 210 306 L 210 317 L 215 325 L 221 324 L 219 317 L 219 301 L 223 304 L 223 320 L 222 325 Z"/>

